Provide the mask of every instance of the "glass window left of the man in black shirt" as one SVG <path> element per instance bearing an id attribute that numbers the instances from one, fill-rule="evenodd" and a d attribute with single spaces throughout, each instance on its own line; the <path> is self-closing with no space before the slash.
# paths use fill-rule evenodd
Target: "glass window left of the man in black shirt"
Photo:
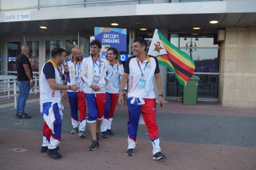
<path id="1" fill-rule="evenodd" d="M 8 42 L 8 71 L 16 70 L 16 57 L 21 54 L 21 42 Z"/>

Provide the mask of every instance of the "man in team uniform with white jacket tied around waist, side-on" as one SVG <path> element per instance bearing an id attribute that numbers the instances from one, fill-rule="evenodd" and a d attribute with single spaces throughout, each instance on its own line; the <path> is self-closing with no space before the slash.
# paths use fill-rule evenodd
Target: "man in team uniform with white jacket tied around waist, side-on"
<path id="1" fill-rule="evenodd" d="M 61 105 L 61 90 L 76 91 L 78 86 L 63 85 L 64 76 L 61 68 L 66 51 L 63 48 L 54 48 L 51 59 L 43 65 L 40 73 L 40 111 L 44 118 L 43 142 L 40 152 L 46 152 L 54 159 L 61 158 L 58 145 L 61 141 L 61 123 L 63 105 Z"/>

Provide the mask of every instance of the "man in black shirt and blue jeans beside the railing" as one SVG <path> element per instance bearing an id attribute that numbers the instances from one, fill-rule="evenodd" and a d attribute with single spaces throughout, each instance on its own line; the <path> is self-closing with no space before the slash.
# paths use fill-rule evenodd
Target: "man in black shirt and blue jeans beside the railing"
<path id="1" fill-rule="evenodd" d="M 28 119 L 30 116 L 25 113 L 25 105 L 29 96 L 30 88 L 34 87 L 32 67 L 27 55 L 29 54 L 29 47 L 23 45 L 21 47 L 21 54 L 16 57 L 17 81 L 19 85 L 19 96 L 17 100 L 18 119 Z"/>

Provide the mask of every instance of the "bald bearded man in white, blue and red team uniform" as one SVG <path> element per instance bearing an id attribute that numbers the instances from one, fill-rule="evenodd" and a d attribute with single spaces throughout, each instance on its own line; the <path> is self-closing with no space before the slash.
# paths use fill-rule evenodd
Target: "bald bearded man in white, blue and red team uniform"
<path id="1" fill-rule="evenodd" d="M 67 77 L 67 85 L 75 84 L 79 86 L 77 91 L 67 90 L 68 99 L 70 101 L 70 110 L 71 110 L 71 123 L 73 130 L 71 134 L 78 133 L 78 136 L 85 137 L 85 94 L 83 88 L 85 82 L 81 81 L 81 64 L 82 64 L 82 52 L 80 48 L 74 47 L 71 50 L 72 59 L 64 65 L 64 74 Z M 68 69 L 67 69 L 68 68 Z M 68 71 L 67 71 L 68 70 Z M 78 118 L 79 110 L 79 118 Z"/>

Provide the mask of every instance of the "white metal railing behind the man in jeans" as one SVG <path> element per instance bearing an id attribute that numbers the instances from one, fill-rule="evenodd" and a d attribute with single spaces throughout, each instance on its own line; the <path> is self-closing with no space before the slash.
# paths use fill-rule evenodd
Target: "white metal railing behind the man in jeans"
<path id="1" fill-rule="evenodd" d="M 39 77 L 34 78 L 35 86 L 30 89 L 30 94 L 39 93 Z M 17 91 L 19 90 L 16 76 L 0 76 L 0 99 L 14 97 L 15 108 L 17 103 Z"/>

